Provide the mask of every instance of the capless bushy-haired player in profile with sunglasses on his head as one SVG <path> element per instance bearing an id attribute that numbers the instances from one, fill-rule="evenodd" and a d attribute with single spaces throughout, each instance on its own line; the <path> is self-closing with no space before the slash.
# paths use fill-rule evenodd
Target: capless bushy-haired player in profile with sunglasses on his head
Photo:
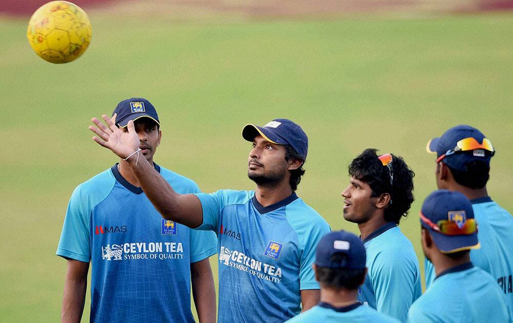
<path id="1" fill-rule="evenodd" d="M 349 175 L 342 192 L 344 219 L 358 224 L 367 251 L 368 272 L 359 299 L 405 321 L 422 292 L 419 261 L 398 227 L 413 202 L 415 174 L 401 157 L 366 149 L 352 160 Z"/>

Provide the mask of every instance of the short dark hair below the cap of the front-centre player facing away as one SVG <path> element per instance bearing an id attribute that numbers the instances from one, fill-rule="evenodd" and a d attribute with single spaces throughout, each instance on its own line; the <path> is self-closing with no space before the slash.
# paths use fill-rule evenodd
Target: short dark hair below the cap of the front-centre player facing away
<path id="1" fill-rule="evenodd" d="M 336 253 L 331 256 L 331 261 L 343 261 L 347 257 L 345 253 Z M 337 290 L 348 289 L 355 290 L 362 285 L 365 279 L 364 269 L 346 269 L 346 268 L 328 268 L 317 267 L 317 278 L 324 287 Z"/>

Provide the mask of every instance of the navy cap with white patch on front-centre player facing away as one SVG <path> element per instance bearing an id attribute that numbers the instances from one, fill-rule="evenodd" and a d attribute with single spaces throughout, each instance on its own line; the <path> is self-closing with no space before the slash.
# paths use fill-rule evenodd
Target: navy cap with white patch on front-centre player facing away
<path id="1" fill-rule="evenodd" d="M 345 253 L 342 262 L 332 261 L 334 254 Z M 365 247 L 362 240 L 346 231 L 334 231 L 321 238 L 315 253 L 315 265 L 333 269 L 365 269 Z"/>

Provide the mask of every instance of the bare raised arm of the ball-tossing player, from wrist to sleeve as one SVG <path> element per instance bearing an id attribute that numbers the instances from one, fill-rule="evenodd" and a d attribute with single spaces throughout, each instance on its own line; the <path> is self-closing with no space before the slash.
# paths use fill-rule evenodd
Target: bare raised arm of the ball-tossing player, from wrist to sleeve
<path id="1" fill-rule="evenodd" d="M 197 197 L 176 193 L 142 154 L 138 161 L 135 155 L 128 161 L 144 193 L 165 219 L 191 228 L 202 224 L 203 210 Z"/>

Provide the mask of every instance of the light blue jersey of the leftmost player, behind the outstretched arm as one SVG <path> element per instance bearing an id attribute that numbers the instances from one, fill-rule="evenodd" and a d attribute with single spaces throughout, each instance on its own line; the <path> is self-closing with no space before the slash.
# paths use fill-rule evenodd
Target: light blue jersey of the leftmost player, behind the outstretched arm
<path id="1" fill-rule="evenodd" d="M 180 193 L 190 179 L 155 165 Z M 91 322 L 193 322 L 190 264 L 216 252 L 212 232 L 165 220 L 116 166 L 79 185 L 57 255 L 91 261 Z"/>

